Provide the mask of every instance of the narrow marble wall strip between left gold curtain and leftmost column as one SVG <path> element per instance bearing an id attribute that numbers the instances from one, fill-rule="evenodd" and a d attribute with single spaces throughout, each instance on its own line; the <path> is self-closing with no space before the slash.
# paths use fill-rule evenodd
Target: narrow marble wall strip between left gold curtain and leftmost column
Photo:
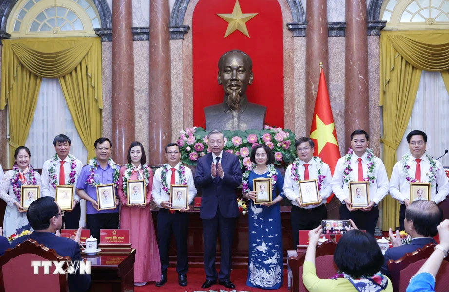
<path id="1" fill-rule="evenodd" d="M 103 79 L 103 137 L 111 137 L 111 78 L 112 78 L 112 42 L 101 43 L 102 79 Z"/>

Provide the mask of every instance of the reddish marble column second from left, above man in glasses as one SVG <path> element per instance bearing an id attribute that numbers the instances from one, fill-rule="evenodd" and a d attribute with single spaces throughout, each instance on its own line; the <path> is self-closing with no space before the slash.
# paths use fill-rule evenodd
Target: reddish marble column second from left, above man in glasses
<path id="1" fill-rule="evenodd" d="M 166 162 L 165 146 L 171 142 L 171 65 L 168 0 L 150 0 L 149 45 L 149 149 L 148 163 Z"/>

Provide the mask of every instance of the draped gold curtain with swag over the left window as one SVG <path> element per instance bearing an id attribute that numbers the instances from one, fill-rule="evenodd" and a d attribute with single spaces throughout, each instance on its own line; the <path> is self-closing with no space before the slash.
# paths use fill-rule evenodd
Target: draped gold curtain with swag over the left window
<path id="1" fill-rule="evenodd" d="M 88 157 L 93 156 L 94 141 L 102 132 L 100 39 L 27 38 L 4 39 L 2 42 L 0 110 L 9 104 L 11 153 L 26 141 L 41 78 L 59 78 L 76 130 L 88 149 Z M 35 79 L 36 81 L 31 82 Z M 15 90 L 16 87 L 21 89 Z M 80 105 L 79 102 L 83 104 Z M 19 110 L 19 107 L 21 110 L 25 105 L 30 112 L 12 111 Z M 95 109 L 91 109 L 92 107 Z M 14 128 L 20 128 L 20 136 L 16 134 L 13 137 Z"/>

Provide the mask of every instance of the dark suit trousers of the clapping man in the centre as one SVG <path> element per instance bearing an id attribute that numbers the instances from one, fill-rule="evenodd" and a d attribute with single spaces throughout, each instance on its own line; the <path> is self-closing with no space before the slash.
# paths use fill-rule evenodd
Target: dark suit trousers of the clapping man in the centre
<path id="1" fill-rule="evenodd" d="M 234 236 L 235 218 L 223 217 L 217 210 L 214 218 L 203 219 L 204 270 L 206 280 L 229 280 L 231 277 L 231 249 Z M 217 235 L 220 236 L 221 260 L 220 273 L 215 269 Z"/>

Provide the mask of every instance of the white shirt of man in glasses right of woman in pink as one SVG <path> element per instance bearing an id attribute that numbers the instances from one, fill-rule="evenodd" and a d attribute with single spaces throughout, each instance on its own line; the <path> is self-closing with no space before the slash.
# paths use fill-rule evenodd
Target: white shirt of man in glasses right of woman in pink
<path id="1" fill-rule="evenodd" d="M 166 165 L 168 171 L 166 173 L 166 180 L 167 180 L 167 185 L 168 185 L 168 191 L 170 190 L 170 181 L 171 181 L 171 166 L 168 164 L 164 164 Z M 181 163 L 176 164 L 175 168 L 175 181 L 176 184 L 180 184 L 181 182 L 179 181 L 179 174 L 178 174 L 178 169 L 179 166 L 181 165 Z M 153 196 L 153 200 L 154 202 L 157 204 L 157 206 L 159 208 L 163 208 L 161 206 L 161 202 L 162 201 L 169 201 L 170 200 L 170 195 L 167 194 L 163 189 L 162 189 L 162 182 L 161 182 L 161 172 L 162 172 L 162 168 L 158 168 L 156 169 L 156 171 L 154 172 L 154 176 L 153 176 L 153 188 L 151 190 L 151 195 Z M 186 183 L 188 185 L 188 201 L 187 204 L 190 205 L 193 201 L 193 198 L 195 197 L 197 190 L 195 188 L 195 183 L 193 182 L 193 175 L 192 175 L 192 171 L 190 170 L 190 168 L 188 167 L 184 167 L 184 176 L 186 178 Z"/>

